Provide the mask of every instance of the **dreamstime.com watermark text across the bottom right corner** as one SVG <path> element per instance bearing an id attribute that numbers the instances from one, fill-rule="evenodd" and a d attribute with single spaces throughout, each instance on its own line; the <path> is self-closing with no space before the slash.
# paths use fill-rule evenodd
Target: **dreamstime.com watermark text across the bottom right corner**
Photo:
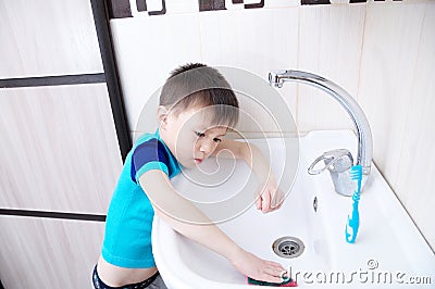
<path id="1" fill-rule="evenodd" d="M 430 276 L 410 276 L 401 271 L 381 271 L 378 266 L 378 262 L 374 259 L 366 262 L 366 268 L 350 272 L 295 272 L 290 266 L 287 276 L 299 284 L 432 285 L 433 281 Z"/>

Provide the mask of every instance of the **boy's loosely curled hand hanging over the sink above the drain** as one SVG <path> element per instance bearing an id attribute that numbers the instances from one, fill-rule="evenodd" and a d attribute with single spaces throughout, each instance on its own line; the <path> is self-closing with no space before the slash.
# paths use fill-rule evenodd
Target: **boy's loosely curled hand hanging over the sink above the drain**
<path id="1" fill-rule="evenodd" d="M 273 212 L 283 205 L 284 198 L 284 192 L 277 187 L 272 175 L 259 186 L 256 192 L 256 205 L 263 213 Z"/>

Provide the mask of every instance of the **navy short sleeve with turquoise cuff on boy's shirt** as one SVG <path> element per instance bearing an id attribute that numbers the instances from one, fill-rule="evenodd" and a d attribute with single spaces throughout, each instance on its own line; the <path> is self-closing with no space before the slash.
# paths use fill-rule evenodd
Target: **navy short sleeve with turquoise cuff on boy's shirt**
<path id="1" fill-rule="evenodd" d="M 137 146 L 132 155 L 132 180 L 138 183 L 141 175 L 151 169 L 163 171 L 166 175 L 169 172 L 169 155 L 158 139 L 153 138 Z"/>

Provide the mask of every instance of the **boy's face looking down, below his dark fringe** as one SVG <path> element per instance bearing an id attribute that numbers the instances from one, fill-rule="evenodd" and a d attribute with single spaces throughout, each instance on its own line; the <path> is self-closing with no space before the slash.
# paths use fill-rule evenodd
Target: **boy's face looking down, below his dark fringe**
<path id="1" fill-rule="evenodd" d="M 226 126 L 212 124 L 213 109 L 189 108 L 169 113 L 160 126 L 160 136 L 184 167 L 194 167 L 214 152 L 226 135 Z"/>

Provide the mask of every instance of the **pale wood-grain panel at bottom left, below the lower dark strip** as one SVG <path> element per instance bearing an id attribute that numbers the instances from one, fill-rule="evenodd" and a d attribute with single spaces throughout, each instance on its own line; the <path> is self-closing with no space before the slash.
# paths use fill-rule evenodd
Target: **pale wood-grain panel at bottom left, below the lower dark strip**
<path id="1" fill-rule="evenodd" d="M 4 288 L 91 288 L 104 223 L 0 216 L 0 228 Z"/>

